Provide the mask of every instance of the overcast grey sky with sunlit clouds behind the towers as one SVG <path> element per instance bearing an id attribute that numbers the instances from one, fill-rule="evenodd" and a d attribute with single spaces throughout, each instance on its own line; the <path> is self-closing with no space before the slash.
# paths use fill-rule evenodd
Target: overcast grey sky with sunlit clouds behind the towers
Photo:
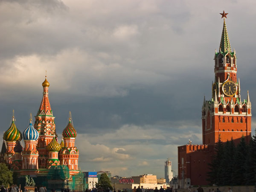
<path id="1" fill-rule="evenodd" d="M 36 115 L 47 70 L 59 141 L 71 111 L 81 170 L 160 178 L 170 158 L 177 174 L 177 146 L 202 143 L 223 10 L 242 99 L 249 89 L 256 108 L 255 7 L 255 0 L 1 0 L 1 135 L 13 109 L 20 131 Z"/>

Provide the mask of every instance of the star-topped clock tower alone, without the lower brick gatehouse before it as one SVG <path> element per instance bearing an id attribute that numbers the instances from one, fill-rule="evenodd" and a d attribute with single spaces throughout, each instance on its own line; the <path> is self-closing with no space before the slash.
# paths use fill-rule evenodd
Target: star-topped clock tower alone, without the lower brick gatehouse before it
<path id="1" fill-rule="evenodd" d="M 203 144 L 215 144 L 220 137 L 222 141 L 231 140 L 239 143 L 241 137 L 249 142 L 251 137 L 251 102 L 241 101 L 240 80 L 237 81 L 236 51 L 231 50 L 225 18 L 221 44 L 215 50 L 215 81 L 212 83 L 212 99 L 205 101 L 202 107 Z"/>

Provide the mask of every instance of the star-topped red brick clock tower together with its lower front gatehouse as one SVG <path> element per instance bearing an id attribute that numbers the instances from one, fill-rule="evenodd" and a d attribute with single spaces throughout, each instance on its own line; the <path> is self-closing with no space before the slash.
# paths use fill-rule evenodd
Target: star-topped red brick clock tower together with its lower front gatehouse
<path id="1" fill-rule="evenodd" d="M 251 138 L 251 102 L 240 95 L 240 80 L 237 79 L 236 51 L 231 50 L 224 18 L 219 51 L 215 50 L 215 78 L 212 83 L 212 98 L 204 99 L 202 106 L 201 145 L 182 145 L 178 147 L 179 185 L 207 185 L 208 164 L 212 160 L 214 145 L 220 137 L 222 141 L 231 140 L 239 143 L 245 137 L 247 143 Z"/>

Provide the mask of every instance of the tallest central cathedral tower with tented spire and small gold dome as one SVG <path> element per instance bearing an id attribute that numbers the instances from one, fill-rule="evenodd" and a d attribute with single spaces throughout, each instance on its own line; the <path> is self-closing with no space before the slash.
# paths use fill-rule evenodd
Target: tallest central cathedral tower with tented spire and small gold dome
<path id="1" fill-rule="evenodd" d="M 43 99 L 37 116 L 35 116 L 35 129 L 38 130 L 39 133 L 37 144 L 37 150 L 39 153 L 38 164 L 39 168 L 44 169 L 46 168 L 46 163 L 49 157 L 47 145 L 52 141 L 54 135 L 56 135 L 56 132 L 54 123 L 55 117 L 52 115 L 52 109 L 48 97 L 48 89 L 50 84 L 47 81 L 47 76 L 45 76 L 42 86 L 44 89 Z"/>

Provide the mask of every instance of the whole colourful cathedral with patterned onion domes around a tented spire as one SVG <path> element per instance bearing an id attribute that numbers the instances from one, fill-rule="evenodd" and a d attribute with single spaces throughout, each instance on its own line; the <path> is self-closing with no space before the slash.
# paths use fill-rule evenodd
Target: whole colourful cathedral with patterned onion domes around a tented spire
<path id="1" fill-rule="evenodd" d="M 32 123 L 32 115 L 28 127 L 23 133 L 15 125 L 15 117 L 3 134 L 3 146 L 0 160 L 6 163 L 16 173 L 17 177 L 30 175 L 33 177 L 46 176 L 51 166 L 65 165 L 69 169 L 70 178 L 79 173 L 79 150 L 75 146 L 76 129 L 73 127 L 71 114 L 69 122 L 62 132 L 61 143 L 55 130 L 49 102 L 47 76 L 42 83 L 43 99 Z M 24 141 L 24 147 L 21 140 Z"/>

